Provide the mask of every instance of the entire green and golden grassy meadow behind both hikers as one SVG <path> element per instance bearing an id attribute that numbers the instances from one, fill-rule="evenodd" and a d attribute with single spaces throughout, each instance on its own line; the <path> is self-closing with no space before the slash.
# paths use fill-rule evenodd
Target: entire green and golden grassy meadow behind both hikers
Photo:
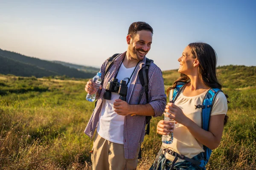
<path id="1" fill-rule="evenodd" d="M 256 169 L 256 67 L 221 66 L 229 121 L 208 170 Z M 179 77 L 163 71 L 166 89 Z M 90 170 L 93 142 L 83 131 L 94 103 L 86 101 L 88 79 L 0 75 L 0 169 Z M 138 170 L 147 170 L 160 149 L 157 122 L 142 144 Z"/>

